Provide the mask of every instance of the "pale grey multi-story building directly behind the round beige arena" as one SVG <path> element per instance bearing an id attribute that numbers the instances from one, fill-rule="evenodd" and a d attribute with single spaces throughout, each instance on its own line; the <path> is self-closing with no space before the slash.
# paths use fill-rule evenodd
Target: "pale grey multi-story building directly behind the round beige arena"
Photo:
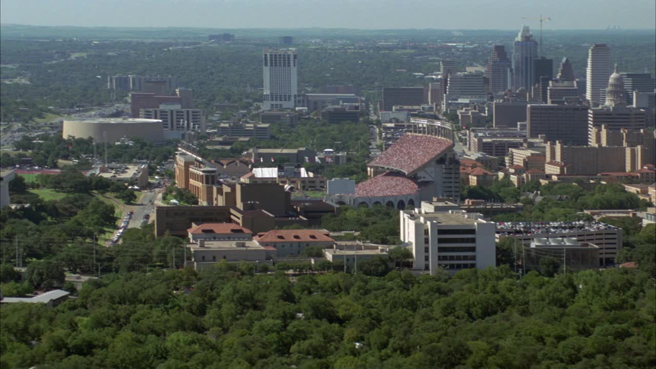
<path id="1" fill-rule="evenodd" d="M 156 109 L 141 109 L 140 118 L 161 120 L 165 138 L 174 138 L 175 135 L 180 138 L 180 133 L 188 131 L 205 132 L 205 114 L 201 109 L 161 104 Z"/>

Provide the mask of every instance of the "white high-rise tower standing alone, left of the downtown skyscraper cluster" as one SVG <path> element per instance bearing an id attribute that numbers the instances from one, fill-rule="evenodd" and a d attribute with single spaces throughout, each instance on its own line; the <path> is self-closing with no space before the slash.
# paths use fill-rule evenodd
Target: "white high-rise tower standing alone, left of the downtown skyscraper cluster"
<path id="1" fill-rule="evenodd" d="M 293 109 L 302 105 L 298 95 L 297 54 L 294 49 L 264 50 L 263 110 Z"/>

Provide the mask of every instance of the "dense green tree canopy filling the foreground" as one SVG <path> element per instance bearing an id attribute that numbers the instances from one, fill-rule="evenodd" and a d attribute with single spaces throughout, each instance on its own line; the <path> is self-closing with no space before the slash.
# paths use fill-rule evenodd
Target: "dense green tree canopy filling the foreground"
<path id="1" fill-rule="evenodd" d="M 0 309 L 3 368 L 653 368 L 645 272 L 111 274 Z"/>

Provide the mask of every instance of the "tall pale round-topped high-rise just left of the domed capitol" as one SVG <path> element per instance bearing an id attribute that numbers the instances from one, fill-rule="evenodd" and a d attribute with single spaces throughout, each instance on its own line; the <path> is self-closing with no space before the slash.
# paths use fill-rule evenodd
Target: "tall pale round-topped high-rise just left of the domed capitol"
<path id="1" fill-rule="evenodd" d="M 590 104 L 599 104 L 602 89 L 608 85 L 608 77 L 613 73 L 611 48 L 605 43 L 596 43 L 588 51 L 586 68 L 585 98 Z"/>

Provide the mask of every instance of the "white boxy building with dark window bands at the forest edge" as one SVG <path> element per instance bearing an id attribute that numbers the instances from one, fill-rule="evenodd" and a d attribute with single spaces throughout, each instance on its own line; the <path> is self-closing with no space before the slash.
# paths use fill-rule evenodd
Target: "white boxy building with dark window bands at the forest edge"
<path id="1" fill-rule="evenodd" d="M 449 202 L 421 202 L 401 211 L 400 236 L 411 244 L 413 269 L 435 274 L 496 265 L 495 223 Z"/>

